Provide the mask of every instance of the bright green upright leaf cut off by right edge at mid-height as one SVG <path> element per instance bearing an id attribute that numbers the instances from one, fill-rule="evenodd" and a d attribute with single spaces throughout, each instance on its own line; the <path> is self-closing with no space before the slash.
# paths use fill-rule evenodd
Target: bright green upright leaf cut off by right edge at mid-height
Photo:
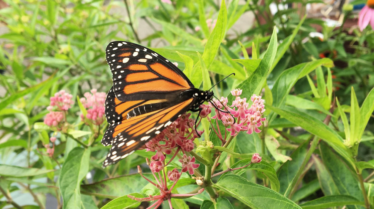
<path id="1" fill-rule="evenodd" d="M 359 139 L 362 138 L 366 125 L 374 111 L 374 88 L 369 92 L 364 103 L 361 105 L 360 114 L 362 121 L 360 123 Z"/>

